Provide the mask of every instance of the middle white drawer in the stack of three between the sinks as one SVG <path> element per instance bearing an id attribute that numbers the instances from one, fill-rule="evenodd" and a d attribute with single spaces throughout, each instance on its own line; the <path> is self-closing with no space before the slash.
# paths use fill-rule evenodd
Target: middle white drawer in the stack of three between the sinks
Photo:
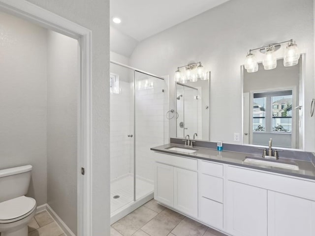
<path id="1" fill-rule="evenodd" d="M 200 192 L 201 197 L 223 203 L 223 179 L 201 174 Z"/>

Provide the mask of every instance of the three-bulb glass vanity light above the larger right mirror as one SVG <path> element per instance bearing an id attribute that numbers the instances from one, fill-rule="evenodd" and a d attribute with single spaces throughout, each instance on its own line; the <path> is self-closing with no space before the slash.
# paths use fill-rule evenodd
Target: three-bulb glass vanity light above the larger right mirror
<path id="1" fill-rule="evenodd" d="M 300 53 L 293 39 L 281 43 L 272 43 L 260 48 L 251 49 L 246 56 L 244 67 L 247 72 L 256 72 L 258 70 L 258 63 L 255 59 L 254 51 L 265 54 L 262 64 L 265 70 L 272 70 L 277 67 L 277 58 L 275 51 L 279 50 L 283 44 L 286 44 L 284 52 L 284 66 L 296 65 L 300 58 Z"/>

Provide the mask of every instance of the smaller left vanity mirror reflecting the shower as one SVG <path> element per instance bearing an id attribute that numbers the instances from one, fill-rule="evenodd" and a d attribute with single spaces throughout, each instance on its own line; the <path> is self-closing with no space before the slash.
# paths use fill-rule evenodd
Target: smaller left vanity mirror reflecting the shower
<path id="1" fill-rule="evenodd" d="M 210 72 L 209 72 L 210 80 Z M 178 138 L 209 141 L 209 80 L 176 82 L 176 133 Z"/>

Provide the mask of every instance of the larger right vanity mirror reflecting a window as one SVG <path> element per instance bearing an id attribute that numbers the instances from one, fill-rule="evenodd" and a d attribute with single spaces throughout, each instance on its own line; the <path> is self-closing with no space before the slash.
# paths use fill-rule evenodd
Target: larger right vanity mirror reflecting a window
<path id="1" fill-rule="evenodd" d="M 294 66 L 243 71 L 243 143 L 303 149 L 302 58 Z"/>

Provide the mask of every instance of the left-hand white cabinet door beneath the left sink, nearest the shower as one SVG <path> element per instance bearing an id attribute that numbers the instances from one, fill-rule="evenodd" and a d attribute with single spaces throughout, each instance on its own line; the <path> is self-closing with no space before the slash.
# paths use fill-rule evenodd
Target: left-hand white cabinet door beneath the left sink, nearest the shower
<path id="1" fill-rule="evenodd" d="M 173 207 L 174 167 L 156 163 L 154 199 Z"/>

